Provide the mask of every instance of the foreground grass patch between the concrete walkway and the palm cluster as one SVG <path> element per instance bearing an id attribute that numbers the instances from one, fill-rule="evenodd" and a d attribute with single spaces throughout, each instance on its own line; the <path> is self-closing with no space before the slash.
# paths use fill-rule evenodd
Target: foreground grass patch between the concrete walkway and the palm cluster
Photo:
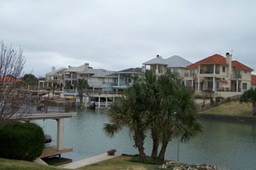
<path id="1" fill-rule="evenodd" d="M 158 165 L 132 162 L 131 156 L 117 156 L 107 161 L 101 161 L 86 167 L 80 167 L 80 170 L 119 170 L 119 169 L 156 169 Z"/>

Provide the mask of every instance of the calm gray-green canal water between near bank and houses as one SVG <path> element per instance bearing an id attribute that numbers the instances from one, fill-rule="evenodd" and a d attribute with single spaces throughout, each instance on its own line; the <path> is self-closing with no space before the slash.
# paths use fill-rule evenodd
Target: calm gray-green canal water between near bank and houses
<path id="1" fill-rule="evenodd" d="M 102 131 L 103 124 L 107 122 L 106 111 L 79 110 L 77 116 L 65 119 L 64 145 L 72 147 L 73 152 L 62 156 L 77 161 L 110 149 L 116 149 L 118 154 L 137 154 L 128 130 L 123 129 L 109 138 Z M 179 144 L 179 161 L 216 164 L 227 169 L 256 169 L 256 124 L 216 120 L 201 122 L 205 127 L 204 133 L 189 143 Z M 37 123 L 56 139 L 57 123 L 54 120 Z M 148 155 L 151 143 L 147 138 L 144 147 Z M 177 140 L 168 145 L 166 159 L 177 160 Z"/>

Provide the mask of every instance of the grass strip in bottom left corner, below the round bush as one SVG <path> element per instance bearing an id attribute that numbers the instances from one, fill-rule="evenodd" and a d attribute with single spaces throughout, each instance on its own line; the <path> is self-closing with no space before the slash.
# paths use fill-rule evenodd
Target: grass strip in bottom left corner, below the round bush
<path id="1" fill-rule="evenodd" d="M 0 170 L 26 170 L 26 169 L 41 169 L 41 170 L 60 170 L 58 167 L 43 166 L 32 161 L 20 161 L 0 158 Z"/>

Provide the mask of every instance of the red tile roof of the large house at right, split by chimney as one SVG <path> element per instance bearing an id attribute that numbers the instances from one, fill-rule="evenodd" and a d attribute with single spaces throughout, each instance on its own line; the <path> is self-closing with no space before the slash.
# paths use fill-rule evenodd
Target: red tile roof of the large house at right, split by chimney
<path id="1" fill-rule="evenodd" d="M 220 54 L 214 54 L 206 59 L 201 59 L 200 61 L 188 65 L 187 68 L 197 68 L 198 64 L 218 64 L 218 65 L 227 65 L 226 58 Z M 247 65 L 241 64 L 239 61 L 232 61 L 232 67 L 236 70 L 243 70 L 243 71 L 253 71 L 252 68 L 248 67 Z"/>

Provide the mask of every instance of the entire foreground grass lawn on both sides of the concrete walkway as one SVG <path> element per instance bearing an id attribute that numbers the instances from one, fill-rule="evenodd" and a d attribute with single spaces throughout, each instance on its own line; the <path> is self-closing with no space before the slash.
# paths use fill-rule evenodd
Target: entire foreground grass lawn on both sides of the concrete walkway
<path id="1" fill-rule="evenodd" d="M 132 157 L 130 156 L 117 156 L 113 159 L 107 160 L 107 161 L 101 161 L 96 164 L 92 164 L 90 166 L 86 167 L 80 167 L 79 170 L 83 169 L 93 169 L 93 170 L 119 170 L 119 169 L 128 169 L 128 170 L 150 170 L 150 169 L 156 169 L 157 165 L 152 164 L 145 164 L 145 163 L 137 163 L 137 162 L 131 162 Z M 18 160 L 10 160 L 10 159 L 3 159 L 0 158 L 0 170 L 15 170 L 15 169 L 21 169 L 21 170 L 35 170 L 35 169 L 41 169 L 41 170 L 60 170 L 63 168 L 59 167 L 52 167 L 52 166 L 42 166 L 38 165 L 37 163 L 31 162 L 31 161 L 18 161 Z"/>

